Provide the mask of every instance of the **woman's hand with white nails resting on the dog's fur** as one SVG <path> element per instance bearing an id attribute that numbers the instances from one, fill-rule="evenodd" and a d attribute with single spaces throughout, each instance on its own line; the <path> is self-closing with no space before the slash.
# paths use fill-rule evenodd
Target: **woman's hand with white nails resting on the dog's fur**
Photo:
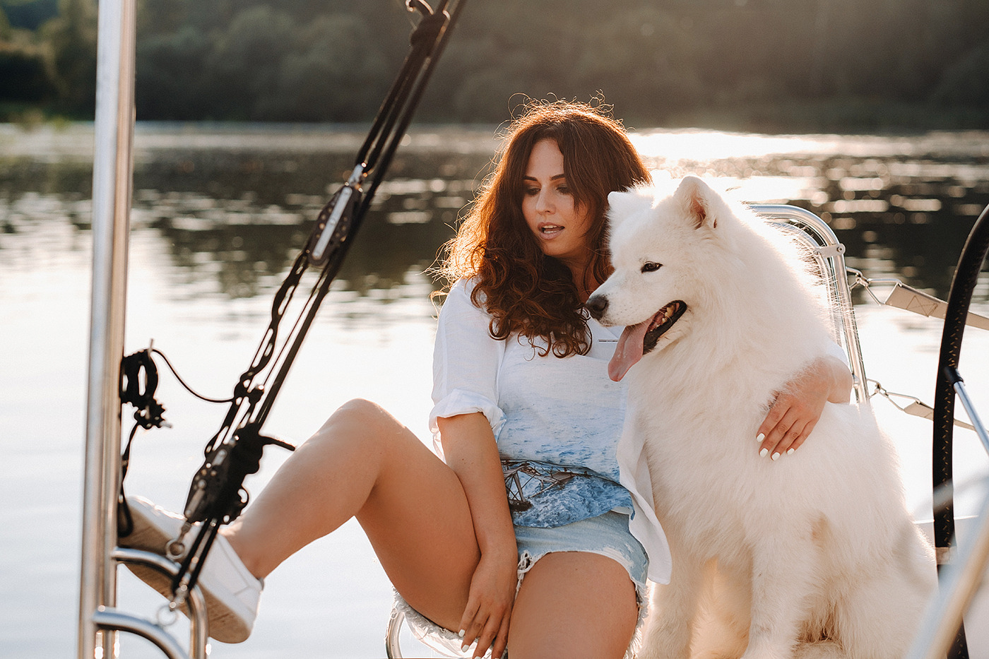
<path id="1" fill-rule="evenodd" d="M 759 454 L 773 460 L 792 453 L 821 419 L 824 404 L 848 403 L 852 373 L 837 357 L 815 359 L 776 393 L 765 421 L 759 426 Z"/>

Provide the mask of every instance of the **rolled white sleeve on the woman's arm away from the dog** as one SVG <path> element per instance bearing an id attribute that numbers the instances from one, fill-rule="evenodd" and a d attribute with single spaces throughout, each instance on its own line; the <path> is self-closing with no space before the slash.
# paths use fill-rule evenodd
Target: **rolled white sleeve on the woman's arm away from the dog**
<path id="1" fill-rule="evenodd" d="M 497 407 L 497 374 L 504 341 L 492 337 L 491 317 L 471 301 L 471 285 L 464 280 L 450 289 L 439 315 L 433 349 L 434 407 L 429 429 L 439 449 L 440 417 L 481 412 L 497 436 L 504 414 Z"/>

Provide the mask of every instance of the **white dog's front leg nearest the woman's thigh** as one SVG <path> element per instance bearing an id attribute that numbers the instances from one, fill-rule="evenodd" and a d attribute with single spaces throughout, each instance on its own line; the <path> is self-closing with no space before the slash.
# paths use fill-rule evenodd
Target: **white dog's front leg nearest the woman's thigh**
<path id="1" fill-rule="evenodd" d="M 639 659 L 690 656 L 690 633 L 697 614 L 703 565 L 685 556 L 683 552 L 674 552 L 670 585 L 653 589 Z"/>

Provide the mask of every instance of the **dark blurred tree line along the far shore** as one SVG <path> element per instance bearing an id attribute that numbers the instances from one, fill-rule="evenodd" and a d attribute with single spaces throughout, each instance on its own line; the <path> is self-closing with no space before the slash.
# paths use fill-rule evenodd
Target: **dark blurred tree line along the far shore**
<path id="1" fill-rule="evenodd" d="M 413 20 L 402 0 L 138 0 L 137 16 L 137 117 L 179 121 L 367 121 Z M 512 98 L 600 92 L 639 126 L 985 128 L 986 27 L 984 0 L 469 0 L 417 118 L 496 123 Z M 95 42 L 96 0 L 0 0 L 0 119 L 91 117 Z"/>

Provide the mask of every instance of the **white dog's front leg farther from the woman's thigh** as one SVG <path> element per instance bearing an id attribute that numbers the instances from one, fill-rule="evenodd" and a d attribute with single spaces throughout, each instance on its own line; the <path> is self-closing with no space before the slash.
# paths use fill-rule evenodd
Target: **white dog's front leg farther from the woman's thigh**
<path id="1" fill-rule="evenodd" d="M 791 659 L 816 591 L 819 548 L 810 529 L 764 525 L 753 550 L 752 625 L 743 659 Z"/>

